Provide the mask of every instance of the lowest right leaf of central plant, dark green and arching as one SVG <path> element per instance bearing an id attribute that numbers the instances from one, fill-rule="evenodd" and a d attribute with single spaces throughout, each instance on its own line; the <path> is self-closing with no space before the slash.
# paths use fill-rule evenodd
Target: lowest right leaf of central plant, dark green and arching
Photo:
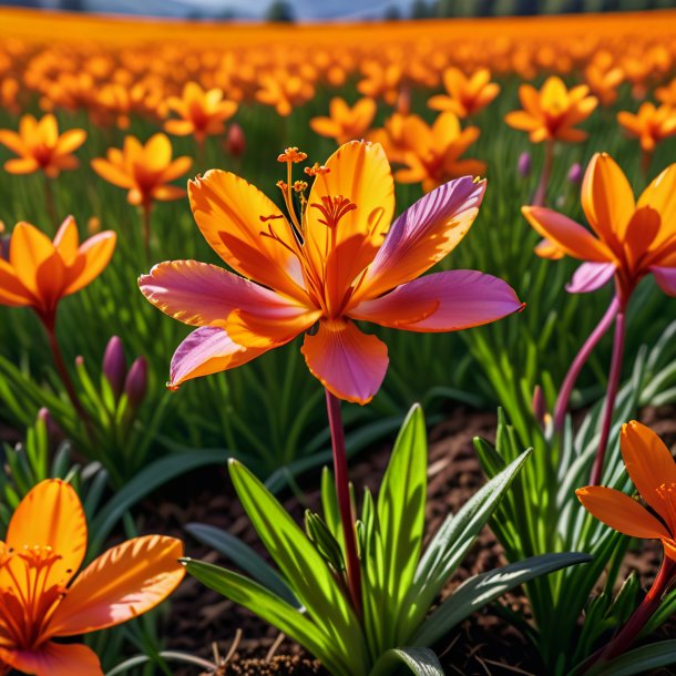
<path id="1" fill-rule="evenodd" d="M 588 561 L 592 561 L 592 556 L 576 552 L 544 554 L 470 577 L 426 618 L 416 633 L 413 643 L 431 645 L 447 635 L 459 622 L 515 586 L 553 571 Z"/>

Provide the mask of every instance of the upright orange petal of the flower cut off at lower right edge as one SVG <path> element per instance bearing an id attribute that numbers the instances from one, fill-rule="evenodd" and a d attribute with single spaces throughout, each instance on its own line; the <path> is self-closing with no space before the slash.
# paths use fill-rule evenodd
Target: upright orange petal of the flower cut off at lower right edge
<path id="1" fill-rule="evenodd" d="M 658 492 L 664 484 L 676 484 L 676 463 L 669 449 L 651 428 L 636 420 L 622 426 L 619 448 L 627 472 L 641 496 L 676 533 L 670 501 Z"/>

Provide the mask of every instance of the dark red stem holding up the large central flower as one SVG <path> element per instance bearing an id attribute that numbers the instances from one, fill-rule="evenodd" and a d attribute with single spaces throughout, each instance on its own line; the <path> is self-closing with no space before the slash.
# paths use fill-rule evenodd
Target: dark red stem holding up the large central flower
<path id="1" fill-rule="evenodd" d="M 347 471 L 347 454 L 345 451 L 345 432 L 340 414 L 340 401 L 326 390 L 326 410 L 331 430 L 331 444 L 334 448 L 334 471 L 336 474 L 336 494 L 338 510 L 342 524 L 345 552 L 347 559 L 347 578 L 352 597 L 352 605 L 361 616 L 361 571 L 357 556 L 357 540 L 355 536 L 355 516 L 350 501 L 350 486 Z"/>

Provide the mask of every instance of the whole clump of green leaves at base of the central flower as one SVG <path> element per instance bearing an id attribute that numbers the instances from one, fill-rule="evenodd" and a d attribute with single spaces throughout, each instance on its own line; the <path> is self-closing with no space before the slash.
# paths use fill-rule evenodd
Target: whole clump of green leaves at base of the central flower
<path id="1" fill-rule="evenodd" d="M 262 569 L 257 556 L 252 563 L 258 582 L 199 561 L 187 559 L 185 565 L 204 584 L 304 645 L 336 676 L 385 675 L 398 660 L 416 674 L 441 674 L 428 648 L 464 617 L 520 584 L 590 561 L 585 554 L 554 554 L 484 573 L 468 580 L 430 612 L 529 454 L 520 454 L 458 514 L 449 516 L 422 553 L 427 440 L 422 411 L 413 407 L 397 438 L 378 500 L 365 492 L 355 524 L 361 616 L 347 593 L 341 563 L 346 553 L 328 472 L 322 479 L 324 516 L 310 513 L 306 518 L 307 536 L 252 472 L 237 461 L 229 464 L 237 495 L 278 566 L 285 588 L 290 588 L 300 607 L 279 595 L 278 577 Z M 219 551 L 244 570 L 250 569 L 248 553 L 238 544 L 204 526 L 196 530 L 193 524 L 191 531 L 203 541 L 207 533 Z"/>

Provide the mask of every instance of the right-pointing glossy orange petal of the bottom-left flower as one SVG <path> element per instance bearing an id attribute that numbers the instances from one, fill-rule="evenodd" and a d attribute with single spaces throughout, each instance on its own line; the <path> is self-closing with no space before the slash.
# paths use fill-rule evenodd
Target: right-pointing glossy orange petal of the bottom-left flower
<path id="1" fill-rule="evenodd" d="M 146 535 L 111 547 L 71 585 L 47 633 L 74 636 L 126 622 L 162 603 L 185 575 L 183 543 Z"/>

